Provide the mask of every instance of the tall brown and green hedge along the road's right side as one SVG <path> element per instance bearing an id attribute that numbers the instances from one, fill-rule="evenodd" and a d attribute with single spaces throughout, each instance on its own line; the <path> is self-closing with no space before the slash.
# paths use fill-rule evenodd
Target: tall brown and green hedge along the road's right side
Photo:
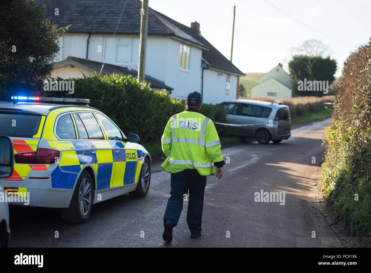
<path id="1" fill-rule="evenodd" d="M 355 236 L 371 235 L 370 56 L 371 41 L 351 53 L 344 64 L 321 170 L 334 216 Z"/>

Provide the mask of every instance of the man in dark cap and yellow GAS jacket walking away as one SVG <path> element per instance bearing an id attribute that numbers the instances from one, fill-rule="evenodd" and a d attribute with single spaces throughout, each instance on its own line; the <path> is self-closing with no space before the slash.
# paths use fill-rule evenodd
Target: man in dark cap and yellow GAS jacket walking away
<path id="1" fill-rule="evenodd" d="M 162 151 L 167 156 L 161 167 L 171 173 L 170 198 L 164 215 L 162 238 L 173 240 L 183 200 L 189 190 L 187 224 L 191 238 L 201 236 L 206 177 L 223 176 L 224 160 L 213 121 L 201 114 L 201 94 L 192 91 L 185 101 L 185 110 L 172 116 L 161 138 Z M 216 169 L 215 169 L 215 167 Z"/>

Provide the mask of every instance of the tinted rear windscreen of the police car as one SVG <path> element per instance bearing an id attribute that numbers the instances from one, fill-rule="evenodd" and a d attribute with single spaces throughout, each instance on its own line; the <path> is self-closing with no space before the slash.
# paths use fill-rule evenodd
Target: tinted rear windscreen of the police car
<path id="1" fill-rule="evenodd" d="M 15 138 L 32 138 L 37 134 L 41 121 L 41 115 L 0 112 L 0 132 L 1 134 Z"/>

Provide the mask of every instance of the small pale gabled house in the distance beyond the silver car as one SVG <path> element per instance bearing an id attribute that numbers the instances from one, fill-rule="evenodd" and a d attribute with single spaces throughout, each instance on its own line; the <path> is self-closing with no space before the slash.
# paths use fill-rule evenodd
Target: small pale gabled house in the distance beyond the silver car
<path id="1" fill-rule="evenodd" d="M 295 93 L 291 80 L 291 76 L 283 70 L 279 63 L 278 66 L 260 78 L 260 83 L 251 89 L 251 97 L 292 98 Z"/>

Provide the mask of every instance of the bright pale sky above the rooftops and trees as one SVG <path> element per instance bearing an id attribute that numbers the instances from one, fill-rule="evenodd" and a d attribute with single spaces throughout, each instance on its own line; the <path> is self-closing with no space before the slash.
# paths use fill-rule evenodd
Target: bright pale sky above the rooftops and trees
<path id="1" fill-rule="evenodd" d="M 329 46 L 339 77 L 349 54 L 371 37 L 371 0 L 149 0 L 186 26 L 197 20 L 201 35 L 227 59 L 234 5 L 232 62 L 244 73 L 266 73 L 278 63 L 288 72 L 289 49 L 316 39 Z"/>

